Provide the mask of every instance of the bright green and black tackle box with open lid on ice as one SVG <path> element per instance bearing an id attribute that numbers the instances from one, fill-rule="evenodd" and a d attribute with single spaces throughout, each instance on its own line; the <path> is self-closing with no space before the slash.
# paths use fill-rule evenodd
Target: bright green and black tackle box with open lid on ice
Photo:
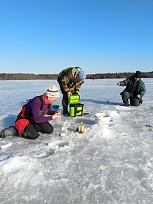
<path id="1" fill-rule="evenodd" d="M 71 117 L 82 116 L 84 104 L 80 103 L 80 95 L 75 94 L 69 97 L 69 114 Z"/>

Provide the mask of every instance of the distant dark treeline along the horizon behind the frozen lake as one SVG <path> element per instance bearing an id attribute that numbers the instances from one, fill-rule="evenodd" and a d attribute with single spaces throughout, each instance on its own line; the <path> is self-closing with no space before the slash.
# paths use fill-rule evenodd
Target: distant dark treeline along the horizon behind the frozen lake
<path id="1" fill-rule="evenodd" d="M 127 78 L 134 73 L 105 73 L 105 74 L 87 74 L 87 79 L 118 79 Z M 58 74 L 27 74 L 27 73 L 0 73 L 0 80 L 55 80 Z M 152 72 L 142 72 L 142 78 L 153 78 Z"/>

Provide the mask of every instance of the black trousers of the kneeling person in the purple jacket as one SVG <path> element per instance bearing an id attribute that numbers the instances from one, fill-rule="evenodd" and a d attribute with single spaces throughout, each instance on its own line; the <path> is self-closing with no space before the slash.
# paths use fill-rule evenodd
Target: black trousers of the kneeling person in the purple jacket
<path id="1" fill-rule="evenodd" d="M 53 132 L 53 126 L 49 122 L 35 124 L 30 123 L 25 127 L 21 136 L 26 139 L 36 139 L 39 137 L 38 132 L 50 134 Z"/>

